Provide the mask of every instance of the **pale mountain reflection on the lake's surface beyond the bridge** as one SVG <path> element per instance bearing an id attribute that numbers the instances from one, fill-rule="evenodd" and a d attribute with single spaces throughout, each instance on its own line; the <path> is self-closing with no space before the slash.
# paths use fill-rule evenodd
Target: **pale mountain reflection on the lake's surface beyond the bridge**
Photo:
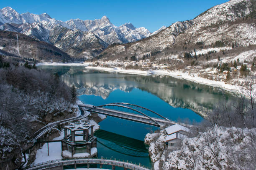
<path id="1" fill-rule="evenodd" d="M 114 90 L 131 92 L 134 88 L 149 92 L 172 107 L 182 107 L 205 115 L 214 105 L 233 96 L 221 90 L 188 80 L 166 75 L 126 75 L 97 70 L 83 66 L 40 66 L 51 73 L 58 73 L 70 87 L 75 85 L 79 95 L 96 95 L 106 99 Z M 136 103 L 135 103 L 136 104 Z"/>

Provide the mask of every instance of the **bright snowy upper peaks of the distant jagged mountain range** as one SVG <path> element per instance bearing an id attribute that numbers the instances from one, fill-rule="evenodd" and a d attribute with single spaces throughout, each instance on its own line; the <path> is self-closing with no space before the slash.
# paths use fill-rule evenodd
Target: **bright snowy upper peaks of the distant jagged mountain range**
<path id="1" fill-rule="evenodd" d="M 135 28 L 131 23 L 126 23 L 117 27 L 113 25 L 106 16 L 97 20 L 71 19 L 63 22 L 61 20 L 51 18 L 46 13 L 41 15 L 31 14 L 28 12 L 19 14 L 11 7 L 4 7 L 3 9 L 0 9 L 0 22 L 23 24 L 23 27 L 21 27 L 23 30 L 21 32 L 26 35 L 31 35 L 30 33 L 34 32 L 33 29 L 36 29 L 37 31 L 44 30 L 46 34 L 44 34 L 43 37 L 49 37 L 49 32 L 54 26 L 63 26 L 72 31 L 80 30 L 82 32 L 92 32 L 108 44 L 112 44 L 113 42 L 133 42 L 151 35 L 151 32 L 146 28 Z M 42 27 L 40 28 L 37 26 L 38 28 L 36 28 L 33 26 L 31 27 L 31 25 L 41 25 Z M 49 25 L 52 26 L 49 27 Z M 47 40 L 47 38 L 45 40 Z"/>

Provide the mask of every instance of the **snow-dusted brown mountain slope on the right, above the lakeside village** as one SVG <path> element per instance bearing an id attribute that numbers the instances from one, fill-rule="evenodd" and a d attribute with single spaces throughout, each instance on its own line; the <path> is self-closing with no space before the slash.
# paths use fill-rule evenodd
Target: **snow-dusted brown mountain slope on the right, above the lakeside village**
<path id="1" fill-rule="evenodd" d="M 193 20 L 176 22 L 168 28 L 159 29 L 151 36 L 127 45 L 115 45 L 102 52 L 102 59 L 125 59 L 135 55 L 137 59 L 154 54 L 154 58 L 172 58 L 184 52 L 223 42 L 231 47 L 256 44 L 256 2 L 255 0 L 230 0 L 216 5 Z M 199 49 L 196 49 L 199 50 Z M 115 52 L 115 53 L 114 53 Z M 110 56 L 111 54 L 111 56 Z"/>

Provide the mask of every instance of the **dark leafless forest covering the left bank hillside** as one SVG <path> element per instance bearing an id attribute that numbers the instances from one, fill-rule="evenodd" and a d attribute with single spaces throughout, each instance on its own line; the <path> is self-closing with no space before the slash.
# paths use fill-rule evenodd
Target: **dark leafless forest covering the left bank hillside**
<path id="1" fill-rule="evenodd" d="M 75 90 L 35 65 L 0 56 L 0 165 L 18 168 L 33 133 L 73 112 Z"/>

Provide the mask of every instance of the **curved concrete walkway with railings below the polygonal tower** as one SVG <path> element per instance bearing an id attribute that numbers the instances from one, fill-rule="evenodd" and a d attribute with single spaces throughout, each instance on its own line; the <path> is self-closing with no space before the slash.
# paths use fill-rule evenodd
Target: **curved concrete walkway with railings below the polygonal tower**
<path id="1" fill-rule="evenodd" d="M 74 159 L 74 160 L 52 160 L 47 161 L 44 163 L 38 163 L 36 165 L 32 164 L 30 168 L 27 168 L 26 170 L 44 170 L 44 169 L 50 169 L 50 168 L 57 168 L 63 169 L 63 166 L 66 165 L 76 165 L 77 164 L 100 164 L 100 165 L 112 165 L 112 166 L 118 166 L 123 167 L 124 169 L 131 169 L 131 170 L 150 170 L 148 167 L 144 167 L 143 165 L 136 165 L 132 162 L 128 161 L 120 161 L 120 160 L 111 160 L 111 159 L 99 159 L 99 158 L 87 158 L 87 159 Z"/>

